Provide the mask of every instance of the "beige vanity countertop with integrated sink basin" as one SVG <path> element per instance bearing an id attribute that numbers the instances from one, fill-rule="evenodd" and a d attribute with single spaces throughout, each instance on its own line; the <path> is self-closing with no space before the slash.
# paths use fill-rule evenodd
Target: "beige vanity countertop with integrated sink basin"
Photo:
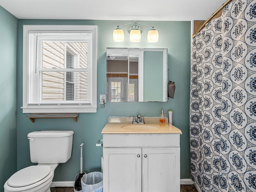
<path id="1" fill-rule="evenodd" d="M 125 126 L 129 126 L 128 128 Z M 142 130 L 140 127 L 142 127 Z M 156 128 L 147 129 L 143 126 L 153 126 Z M 170 123 L 145 123 L 145 124 L 132 124 L 132 123 L 119 123 L 108 122 L 103 128 L 102 134 L 182 134 L 181 130 L 176 128 Z"/>

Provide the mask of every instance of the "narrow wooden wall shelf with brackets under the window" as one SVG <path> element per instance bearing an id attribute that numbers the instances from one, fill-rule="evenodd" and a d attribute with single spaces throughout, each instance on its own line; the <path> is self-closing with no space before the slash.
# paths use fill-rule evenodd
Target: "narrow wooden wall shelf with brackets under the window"
<path id="1" fill-rule="evenodd" d="M 40 113 L 40 114 L 36 114 L 36 113 L 32 113 L 30 115 L 25 115 L 25 117 L 28 117 L 33 123 L 35 122 L 36 118 L 74 118 L 75 122 L 77 122 L 77 117 L 78 117 L 79 113 L 74 113 L 74 114 L 44 114 L 44 113 Z"/>

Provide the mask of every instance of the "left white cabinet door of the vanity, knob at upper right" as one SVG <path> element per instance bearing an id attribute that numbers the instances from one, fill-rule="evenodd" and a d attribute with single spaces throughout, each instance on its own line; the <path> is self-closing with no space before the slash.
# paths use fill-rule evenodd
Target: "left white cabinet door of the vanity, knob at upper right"
<path id="1" fill-rule="evenodd" d="M 103 148 L 104 192 L 141 192 L 141 148 Z"/>

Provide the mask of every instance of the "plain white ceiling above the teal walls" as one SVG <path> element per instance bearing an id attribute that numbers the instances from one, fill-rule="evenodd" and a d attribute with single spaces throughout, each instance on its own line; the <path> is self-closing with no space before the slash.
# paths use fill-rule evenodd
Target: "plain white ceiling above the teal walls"
<path id="1" fill-rule="evenodd" d="M 18 19 L 190 21 L 208 19 L 226 0 L 0 0 Z"/>

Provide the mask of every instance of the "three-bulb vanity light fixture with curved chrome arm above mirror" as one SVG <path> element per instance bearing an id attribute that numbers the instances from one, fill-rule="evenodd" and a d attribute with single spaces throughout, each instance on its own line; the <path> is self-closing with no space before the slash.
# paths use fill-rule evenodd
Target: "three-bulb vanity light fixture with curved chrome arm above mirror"
<path id="1" fill-rule="evenodd" d="M 117 28 L 113 31 L 113 39 L 115 42 L 124 41 L 124 31 L 119 27 L 128 24 L 132 24 L 132 26 L 128 29 L 131 42 L 140 42 L 140 34 L 142 33 L 142 28 L 140 28 L 139 24 L 151 27 L 151 29 L 148 31 L 148 42 L 158 42 L 158 30 L 155 30 L 154 26 L 139 22 L 128 22 L 118 25 Z"/>

